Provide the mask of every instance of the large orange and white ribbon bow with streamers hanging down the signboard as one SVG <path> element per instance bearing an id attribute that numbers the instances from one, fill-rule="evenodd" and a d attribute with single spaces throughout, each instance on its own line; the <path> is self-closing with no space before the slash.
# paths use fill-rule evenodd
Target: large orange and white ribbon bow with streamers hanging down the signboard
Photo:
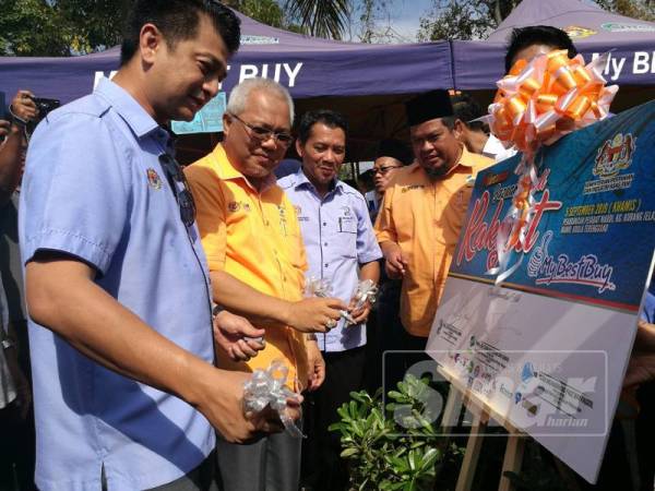
<path id="1" fill-rule="evenodd" d="M 523 156 L 514 172 L 520 177 L 512 206 L 497 235 L 498 266 L 487 274 L 504 282 L 522 263 L 526 231 L 534 216 L 537 167 L 535 156 L 543 145 L 605 119 L 618 91 L 606 86 L 603 67 L 609 53 L 584 64 L 581 55 L 570 59 L 565 49 L 519 60 L 499 80 L 498 92 L 486 121 L 505 148 L 515 147 Z M 510 265 L 512 250 L 521 251 Z"/>

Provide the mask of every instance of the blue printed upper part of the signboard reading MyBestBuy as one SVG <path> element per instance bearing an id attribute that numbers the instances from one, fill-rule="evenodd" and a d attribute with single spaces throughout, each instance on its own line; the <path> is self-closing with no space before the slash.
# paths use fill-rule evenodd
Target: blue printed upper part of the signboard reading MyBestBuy
<path id="1" fill-rule="evenodd" d="M 479 172 L 452 276 L 492 282 L 519 156 Z M 655 248 L 655 101 L 579 130 L 536 157 L 536 203 L 503 286 L 636 311 Z"/>

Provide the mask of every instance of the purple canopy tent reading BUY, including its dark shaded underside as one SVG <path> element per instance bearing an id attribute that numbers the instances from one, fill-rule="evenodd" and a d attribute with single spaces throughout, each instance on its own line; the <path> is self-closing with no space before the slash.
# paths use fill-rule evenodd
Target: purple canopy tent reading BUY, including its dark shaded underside
<path id="1" fill-rule="evenodd" d="M 453 86 L 448 41 L 369 45 L 319 39 L 270 27 L 240 13 L 241 49 L 230 60 L 222 89 L 251 76 L 288 87 L 297 113 L 309 108 L 342 110 L 350 122 L 349 158 L 370 158 L 379 140 L 404 131 L 402 103 L 412 94 Z M 29 88 L 66 104 L 88 94 L 100 76 L 118 69 L 120 49 L 71 58 L 0 58 L 0 91 L 12 97 Z M 213 142 L 184 136 L 195 155 Z"/>

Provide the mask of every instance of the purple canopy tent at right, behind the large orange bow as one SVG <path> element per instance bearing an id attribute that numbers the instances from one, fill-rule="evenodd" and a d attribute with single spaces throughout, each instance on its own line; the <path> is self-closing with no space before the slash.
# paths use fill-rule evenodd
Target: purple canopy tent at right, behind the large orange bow
<path id="1" fill-rule="evenodd" d="M 655 96 L 655 23 L 607 12 L 580 0 L 523 0 L 483 41 L 453 40 L 454 86 L 491 91 L 504 74 L 504 53 L 514 27 L 551 25 L 565 31 L 585 61 L 610 51 L 605 76 L 621 89 L 612 110 Z"/>

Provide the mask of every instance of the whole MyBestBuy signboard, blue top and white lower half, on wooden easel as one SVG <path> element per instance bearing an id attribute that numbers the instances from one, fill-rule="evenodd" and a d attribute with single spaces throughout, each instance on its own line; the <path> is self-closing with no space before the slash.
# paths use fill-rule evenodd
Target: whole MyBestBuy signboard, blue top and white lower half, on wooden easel
<path id="1" fill-rule="evenodd" d="M 514 157 L 478 173 L 427 350 L 491 414 L 594 482 L 655 249 L 655 101 L 537 155 L 534 218 L 500 286 Z"/>

